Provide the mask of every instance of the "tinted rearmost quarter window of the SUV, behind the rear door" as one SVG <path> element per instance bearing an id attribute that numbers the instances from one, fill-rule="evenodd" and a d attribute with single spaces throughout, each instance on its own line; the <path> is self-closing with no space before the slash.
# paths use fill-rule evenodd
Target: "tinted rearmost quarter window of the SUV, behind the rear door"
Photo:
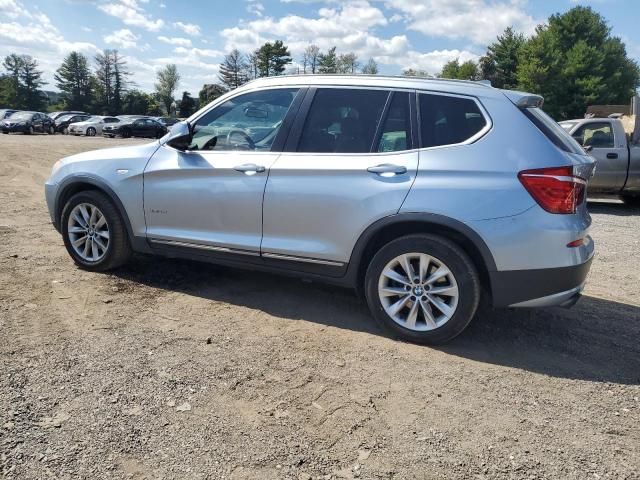
<path id="1" fill-rule="evenodd" d="M 480 132 L 487 120 L 470 98 L 420 94 L 422 147 L 455 145 Z"/>

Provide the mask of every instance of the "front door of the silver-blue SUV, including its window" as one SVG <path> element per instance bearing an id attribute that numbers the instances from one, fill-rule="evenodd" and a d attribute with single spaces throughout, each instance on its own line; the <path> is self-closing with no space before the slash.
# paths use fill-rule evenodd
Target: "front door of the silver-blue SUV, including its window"
<path id="1" fill-rule="evenodd" d="M 259 255 L 267 173 L 297 94 L 280 88 L 237 95 L 195 121 L 187 151 L 158 149 L 144 172 L 152 243 Z"/>

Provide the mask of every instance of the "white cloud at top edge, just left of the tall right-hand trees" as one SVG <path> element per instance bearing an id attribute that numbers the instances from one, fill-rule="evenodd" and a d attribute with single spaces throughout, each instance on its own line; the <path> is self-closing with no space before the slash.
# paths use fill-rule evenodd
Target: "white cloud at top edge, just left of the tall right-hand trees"
<path id="1" fill-rule="evenodd" d="M 431 37 L 466 38 L 487 45 L 502 31 L 513 26 L 525 34 L 539 23 L 526 12 L 526 0 L 386 0 L 399 10 L 408 28 Z"/>

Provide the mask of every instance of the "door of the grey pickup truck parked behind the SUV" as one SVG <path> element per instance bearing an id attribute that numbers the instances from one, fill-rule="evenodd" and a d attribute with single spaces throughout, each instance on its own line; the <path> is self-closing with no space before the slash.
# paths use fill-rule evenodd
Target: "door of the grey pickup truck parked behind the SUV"
<path id="1" fill-rule="evenodd" d="M 627 139 L 618 138 L 609 121 L 588 122 L 571 135 L 580 145 L 591 147 L 589 153 L 598 162 L 595 175 L 589 180 L 589 190 L 619 191 L 627 178 Z"/>

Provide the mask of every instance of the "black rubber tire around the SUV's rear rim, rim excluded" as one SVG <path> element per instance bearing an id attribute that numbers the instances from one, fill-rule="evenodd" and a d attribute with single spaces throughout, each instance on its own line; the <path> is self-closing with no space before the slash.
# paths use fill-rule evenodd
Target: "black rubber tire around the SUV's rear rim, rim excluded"
<path id="1" fill-rule="evenodd" d="M 458 285 L 458 304 L 451 318 L 440 327 L 415 331 L 396 323 L 384 310 L 378 282 L 386 265 L 405 253 L 425 253 L 447 265 Z M 424 345 L 439 345 L 462 333 L 473 319 L 480 302 L 480 278 L 469 256 L 455 243 L 430 234 L 408 235 L 387 243 L 373 257 L 365 276 L 365 295 L 374 318 L 396 337 Z"/>

